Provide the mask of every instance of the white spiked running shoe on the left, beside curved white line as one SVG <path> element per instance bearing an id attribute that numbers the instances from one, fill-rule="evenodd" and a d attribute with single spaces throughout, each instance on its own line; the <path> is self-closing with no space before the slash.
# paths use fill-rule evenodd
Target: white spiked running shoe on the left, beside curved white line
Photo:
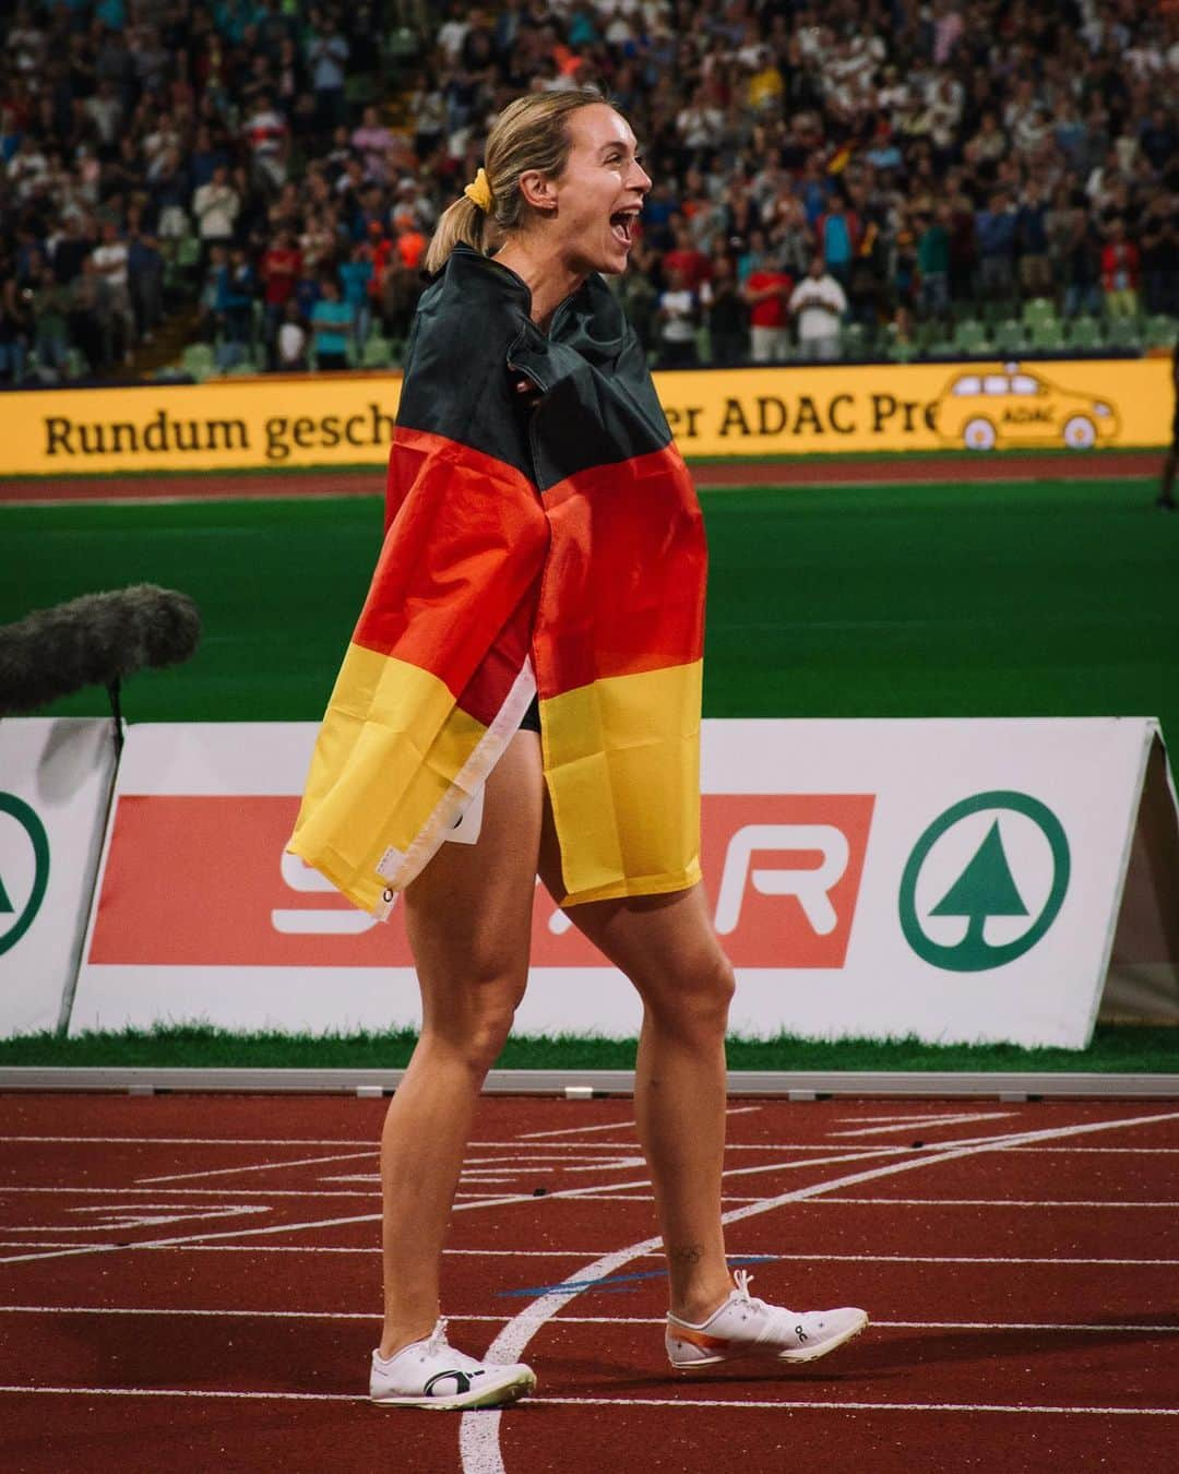
<path id="1" fill-rule="evenodd" d="M 413 1341 L 389 1358 L 373 1352 L 368 1397 L 382 1408 L 500 1408 L 528 1396 L 536 1374 L 523 1362 L 477 1362 L 447 1343 L 439 1321 L 424 1341 Z"/>

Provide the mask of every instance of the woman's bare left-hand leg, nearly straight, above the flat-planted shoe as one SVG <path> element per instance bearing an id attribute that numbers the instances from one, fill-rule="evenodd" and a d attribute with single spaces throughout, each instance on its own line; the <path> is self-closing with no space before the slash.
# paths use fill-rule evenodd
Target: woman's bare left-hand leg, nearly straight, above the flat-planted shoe
<path id="1" fill-rule="evenodd" d="M 541 833 L 539 738 L 517 733 L 488 780 L 476 845 L 444 845 L 404 896 L 421 1035 L 385 1117 L 380 1355 L 433 1330 L 439 1266 L 483 1076 L 528 982 Z"/>

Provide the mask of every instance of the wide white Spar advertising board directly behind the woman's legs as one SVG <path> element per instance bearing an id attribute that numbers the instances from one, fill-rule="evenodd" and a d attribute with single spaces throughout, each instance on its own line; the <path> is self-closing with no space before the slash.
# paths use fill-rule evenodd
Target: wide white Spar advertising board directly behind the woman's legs
<path id="1" fill-rule="evenodd" d="M 417 1024 L 401 908 L 374 923 L 283 853 L 314 736 L 131 728 L 72 1032 Z M 732 1032 L 1085 1045 L 1155 737 L 1148 719 L 706 722 Z M 539 887 L 532 942 L 519 1032 L 637 1032 L 629 983 Z"/>

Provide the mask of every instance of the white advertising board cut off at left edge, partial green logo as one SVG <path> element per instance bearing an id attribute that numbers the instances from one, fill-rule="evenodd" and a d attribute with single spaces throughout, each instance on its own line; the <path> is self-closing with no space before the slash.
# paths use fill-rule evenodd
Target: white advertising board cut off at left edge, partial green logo
<path id="1" fill-rule="evenodd" d="M 57 1027 L 113 775 L 109 721 L 0 721 L 0 1036 Z"/>

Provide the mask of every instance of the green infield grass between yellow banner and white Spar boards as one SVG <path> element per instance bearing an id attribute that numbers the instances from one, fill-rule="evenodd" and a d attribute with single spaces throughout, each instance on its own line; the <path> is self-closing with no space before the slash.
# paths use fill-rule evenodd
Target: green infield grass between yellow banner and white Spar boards
<path id="1" fill-rule="evenodd" d="M 1179 731 L 1179 519 L 1144 479 L 704 492 L 707 716 L 1152 715 Z M 0 507 L 0 624 L 147 581 L 203 616 L 130 721 L 323 712 L 377 498 Z M 55 715 L 106 709 L 99 688 Z"/>

